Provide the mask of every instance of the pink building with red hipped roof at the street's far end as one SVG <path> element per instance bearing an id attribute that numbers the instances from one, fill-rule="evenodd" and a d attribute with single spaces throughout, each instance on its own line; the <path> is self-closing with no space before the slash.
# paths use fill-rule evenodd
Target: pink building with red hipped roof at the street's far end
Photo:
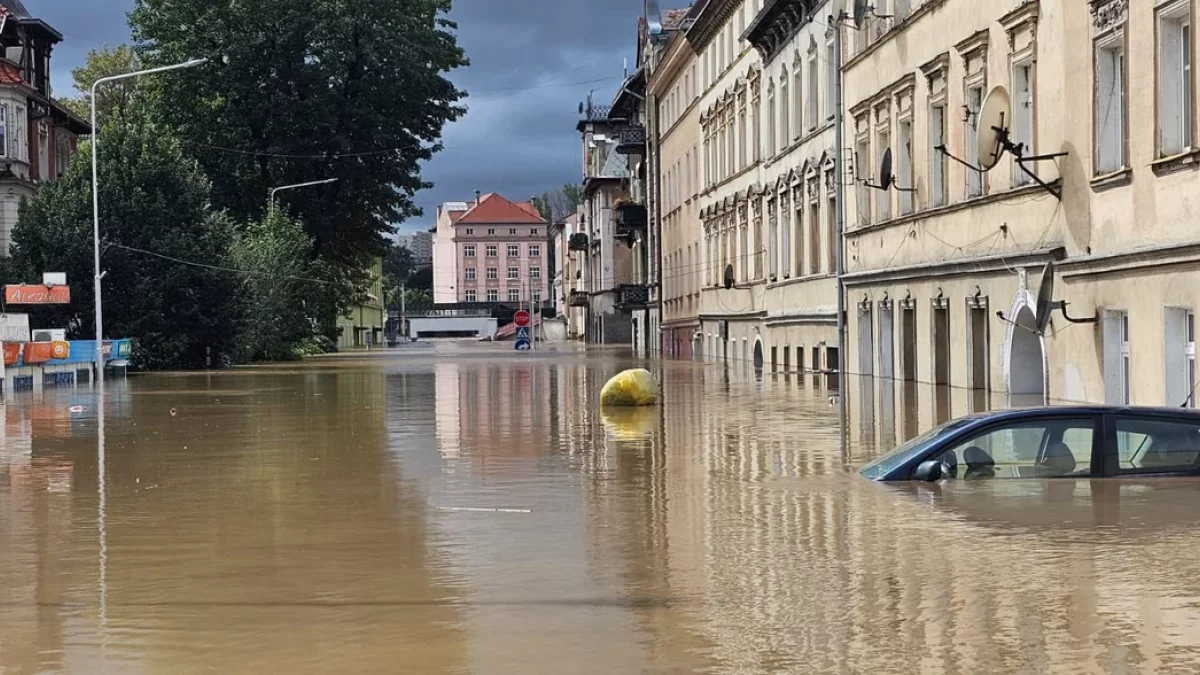
<path id="1" fill-rule="evenodd" d="M 532 202 L 500 195 L 438 208 L 433 301 L 542 304 L 550 300 L 548 223 Z"/>

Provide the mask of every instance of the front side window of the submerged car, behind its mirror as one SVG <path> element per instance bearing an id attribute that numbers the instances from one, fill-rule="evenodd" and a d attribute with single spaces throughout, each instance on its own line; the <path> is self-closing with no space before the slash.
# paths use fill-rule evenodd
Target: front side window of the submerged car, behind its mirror
<path id="1" fill-rule="evenodd" d="M 1094 420 L 1049 419 L 991 428 L 937 459 L 949 478 L 1049 478 L 1092 470 Z"/>

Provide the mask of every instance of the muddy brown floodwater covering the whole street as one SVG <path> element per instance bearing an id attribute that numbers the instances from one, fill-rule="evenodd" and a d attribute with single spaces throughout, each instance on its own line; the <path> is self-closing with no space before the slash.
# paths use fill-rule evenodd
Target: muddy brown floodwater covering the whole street
<path id="1" fill-rule="evenodd" d="M 872 484 L 905 422 L 842 443 L 826 382 L 692 363 L 599 413 L 630 363 L 442 346 L 17 395 L 0 673 L 1200 671 L 1200 484 Z"/>

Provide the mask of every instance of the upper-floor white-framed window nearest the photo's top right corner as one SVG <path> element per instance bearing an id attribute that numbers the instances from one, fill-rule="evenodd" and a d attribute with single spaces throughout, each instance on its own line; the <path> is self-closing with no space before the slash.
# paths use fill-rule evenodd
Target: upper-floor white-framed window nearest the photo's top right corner
<path id="1" fill-rule="evenodd" d="M 1158 10 L 1158 154 L 1192 148 L 1192 2 Z"/>

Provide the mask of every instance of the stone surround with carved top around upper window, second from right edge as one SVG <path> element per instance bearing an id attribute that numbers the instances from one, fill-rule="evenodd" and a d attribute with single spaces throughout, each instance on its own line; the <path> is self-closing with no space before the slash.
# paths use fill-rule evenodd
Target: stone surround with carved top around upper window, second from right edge
<path id="1" fill-rule="evenodd" d="M 1129 6 L 1128 0 L 1092 0 L 1092 175 L 1103 177 L 1122 173 L 1129 169 Z M 1100 52 L 1112 49 L 1121 52 L 1121 101 L 1117 114 L 1121 115 L 1120 151 L 1121 163 L 1116 167 L 1100 167 Z"/>

